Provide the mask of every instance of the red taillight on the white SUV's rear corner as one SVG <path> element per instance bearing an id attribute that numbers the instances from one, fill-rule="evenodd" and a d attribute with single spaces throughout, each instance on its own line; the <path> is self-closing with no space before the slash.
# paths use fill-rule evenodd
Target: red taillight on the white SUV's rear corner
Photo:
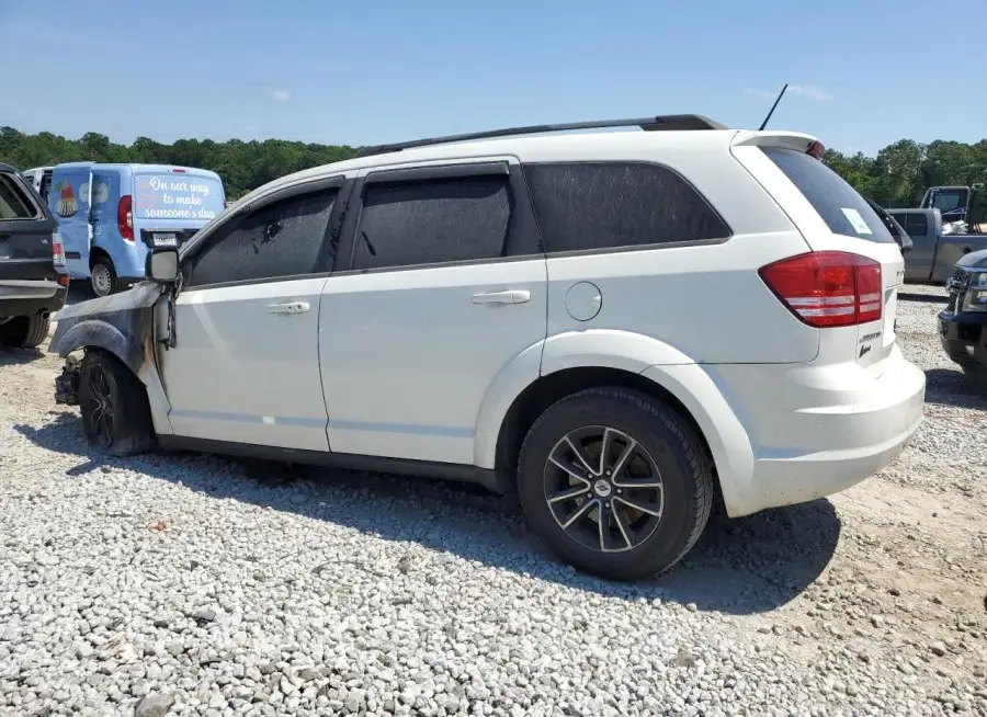
<path id="1" fill-rule="evenodd" d="M 881 264 L 866 257 L 814 251 L 768 264 L 758 273 L 789 310 L 812 327 L 881 319 Z"/>

